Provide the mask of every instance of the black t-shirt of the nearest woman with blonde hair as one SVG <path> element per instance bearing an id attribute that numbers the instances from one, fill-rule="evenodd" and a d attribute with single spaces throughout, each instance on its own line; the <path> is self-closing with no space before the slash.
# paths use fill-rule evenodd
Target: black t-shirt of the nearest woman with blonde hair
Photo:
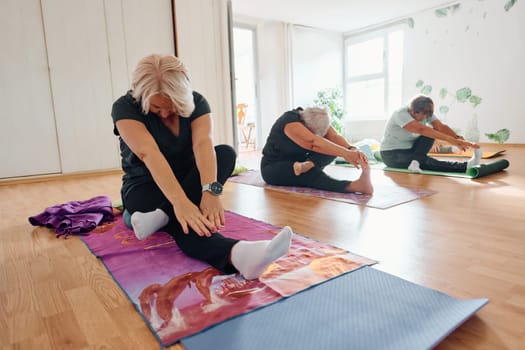
<path id="1" fill-rule="evenodd" d="M 175 136 L 154 113 L 144 114 L 140 101 L 131 95 L 131 91 L 113 103 L 111 117 L 113 118 L 113 133 L 119 136 L 115 123 L 122 119 L 133 119 L 143 123 L 153 136 L 161 153 L 170 164 L 175 175 L 183 175 L 194 162 L 191 122 L 210 113 L 208 101 L 199 94 L 193 92 L 195 109 L 188 118 L 180 118 L 179 136 Z M 120 155 L 122 157 L 122 169 L 124 170 L 123 191 L 127 191 L 135 184 L 152 181 L 152 176 L 142 162 L 119 137 Z"/>

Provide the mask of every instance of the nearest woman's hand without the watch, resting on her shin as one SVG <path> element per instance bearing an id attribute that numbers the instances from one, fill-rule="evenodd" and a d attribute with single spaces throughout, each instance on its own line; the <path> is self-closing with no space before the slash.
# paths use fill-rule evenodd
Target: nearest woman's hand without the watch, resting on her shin
<path id="1" fill-rule="evenodd" d="M 173 204 L 173 209 L 184 233 L 189 233 L 188 226 L 199 236 L 210 237 L 213 232 L 217 231 L 215 225 L 188 198 L 177 200 Z"/>

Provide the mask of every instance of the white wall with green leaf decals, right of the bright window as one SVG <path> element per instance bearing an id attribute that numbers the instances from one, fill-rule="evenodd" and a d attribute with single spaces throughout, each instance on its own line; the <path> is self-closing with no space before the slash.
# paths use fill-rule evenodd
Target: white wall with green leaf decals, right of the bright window
<path id="1" fill-rule="evenodd" d="M 425 11 L 413 16 L 414 27 L 406 31 L 405 100 L 420 91 L 416 82 L 422 80 L 432 86 L 436 111 L 449 106 L 441 117 L 463 134 L 477 115 L 480 142 L 491 142 L 485 133 L 507 128 L 507 142 L 525 143 L 525 3 L 518 1 L 509 11 L 506 3 L 461 1 L 442 17 Z M 482 98 L 477 107 L 439 95 L 442 88 L 455 94 L 463 87 Z"/>

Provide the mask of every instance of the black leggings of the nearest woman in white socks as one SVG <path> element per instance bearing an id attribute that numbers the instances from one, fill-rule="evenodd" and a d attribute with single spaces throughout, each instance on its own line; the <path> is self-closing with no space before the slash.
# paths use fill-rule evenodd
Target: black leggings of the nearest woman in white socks
<path id="1" fill-rule="evenodd" d="M 215 154 L 217 156 L 217 181 L 224 184 L 233 172 L 237 155 L 235 150 L 228 145 L 215 146 Z M 177 174 L 177 179 L 188 198 L 193 204 L 199 206 L 202 186 L 195 162 L 186 174 Z M 201 237 L 191 227 L 189 227 L 189 233 L 185 234 L 175 217 L 173 206 L 154 181 L 133 187 L 127 195 L 123 196 L 122 200 L 130 214 L 135 211 L 149 212 L 158 208 L 162 209 L 169 217 L 168 225 L 164 230 L 173 237 L 186 255 L 205 261 L 225 273 L 237 271 L 229 262 L 229 258 L 231 249 L 238 240 L 224 237 L 218 232 L 213 233 L 211 237 Z"/>

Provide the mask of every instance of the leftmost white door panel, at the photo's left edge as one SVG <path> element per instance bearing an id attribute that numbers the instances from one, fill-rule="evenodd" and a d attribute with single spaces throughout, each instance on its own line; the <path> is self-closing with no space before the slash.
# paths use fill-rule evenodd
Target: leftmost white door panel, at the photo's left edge
<path id="1" fill-rule="evenodd" d="M 60 173 L 39 0 L 2 0 L 0 178 Z"/>

